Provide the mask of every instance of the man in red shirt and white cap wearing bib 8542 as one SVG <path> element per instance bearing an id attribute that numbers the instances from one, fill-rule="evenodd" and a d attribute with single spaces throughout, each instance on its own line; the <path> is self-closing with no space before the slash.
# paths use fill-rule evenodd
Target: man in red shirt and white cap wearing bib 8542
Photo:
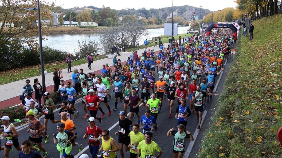
<path id="1" fill-rule="evenodd" d="M 88 146 L 90 153 L 92 157 L 97 157 L 99 145 L 100 145 L 100 139 L 99 135 L 102 134 L 102 130 L 100 127 L 95 125 L 95 118 L 90 117 L 88 119 L 88 127 L 85 129 L 85 135 L 83 136 L 84 139 L 88 137 Z"/>

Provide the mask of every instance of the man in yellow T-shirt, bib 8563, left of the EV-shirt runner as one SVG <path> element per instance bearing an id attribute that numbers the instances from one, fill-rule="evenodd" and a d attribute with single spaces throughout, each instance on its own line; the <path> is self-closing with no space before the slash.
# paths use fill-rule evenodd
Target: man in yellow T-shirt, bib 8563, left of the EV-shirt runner
<path id="1" fill-rule="evenodd" d="M 140 141 L 145 140 L 143 133 L 139 132 L 139 124 L 134 124 L 132 130 L 129 133 L 130 140 L 128 147 L 130 148 L 130 157 L 137 157 L 137 147 Z"/>

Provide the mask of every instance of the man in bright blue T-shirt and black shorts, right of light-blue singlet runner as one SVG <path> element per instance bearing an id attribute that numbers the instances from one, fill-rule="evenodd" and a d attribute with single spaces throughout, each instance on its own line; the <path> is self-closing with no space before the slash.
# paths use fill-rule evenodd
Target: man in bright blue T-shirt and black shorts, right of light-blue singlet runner
<path id="1" fill-rule="evenodd" d="M 67 82 L 67 89 L 66 90 L 67 90 L 67 94 L 65 94 L 65 96 L 68 96 L 69 108 L 74 111 L 75 116 L 78 116 L 79 112 L 74 107 L 74 103 L 75 103 L 77 93 L 76 93 L 75 89 L 71 87 L 70 82 Z"/>

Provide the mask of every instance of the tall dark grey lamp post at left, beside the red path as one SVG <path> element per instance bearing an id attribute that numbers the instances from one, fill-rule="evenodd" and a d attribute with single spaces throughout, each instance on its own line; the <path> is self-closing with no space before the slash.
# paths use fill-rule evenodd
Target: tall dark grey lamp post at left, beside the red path
<path id="1" fill-rule="evenodd" d="M 43 60 L 43 49 L 42 49 L 42 35 L 41 35 L 41 18 L 40 18 L 40 3 L 37 0 L 37 8 L 24 8 L 25 10 L 37 10 L 38 14 L 38 35 L 39 35 L 39 53 L 40 53 L 40 65 L 41 65 L 41 78 L 43 92 L 46 92 L 45 85 L 45 74 L 44 74 L 44 60 Z M 45 105 L 45 99 L 43 98 L 43 105 Z"/>

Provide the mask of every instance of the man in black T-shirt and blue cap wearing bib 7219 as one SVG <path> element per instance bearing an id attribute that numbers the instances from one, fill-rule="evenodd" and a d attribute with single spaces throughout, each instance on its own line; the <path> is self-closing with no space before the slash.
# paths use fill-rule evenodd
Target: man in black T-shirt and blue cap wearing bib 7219
<path id="1" fill-rule="evenodd" d="M 136 95 L 135 95 L 136 96 Z M 138 97 L 139 98 L 139 97 Z M 125 112 L 124 111 L 120 111 L 119 114 L 120 118 L 119 118 L 119 128 L 118 131 L 115 132 L 114 134 L 117 135 L 118 134 L 118 145 L 120 147 L 120 156 L 124 157 L 124 152 L 123 152 L 123 145 L 125 145 L 125 152 L 129 151 L 128 145 L 129 145 L 129 127 L 133 126 L 134 123 L 129 120 L 128 118 L 125 118 Z"/>

